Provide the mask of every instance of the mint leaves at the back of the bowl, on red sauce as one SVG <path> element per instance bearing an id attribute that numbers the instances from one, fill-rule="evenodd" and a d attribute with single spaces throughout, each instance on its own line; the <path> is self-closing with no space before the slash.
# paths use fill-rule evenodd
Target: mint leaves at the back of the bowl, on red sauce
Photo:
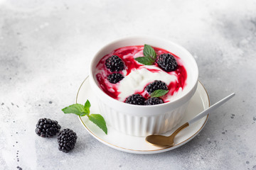
<path id="1" fill-rule="evenodd" d="M 150 45 L 144 45 L 143 55 L 144 57 L 137 57 L 134 60 L 144 65 L 153 65 L 156 62 L 156 52 Z"/>

